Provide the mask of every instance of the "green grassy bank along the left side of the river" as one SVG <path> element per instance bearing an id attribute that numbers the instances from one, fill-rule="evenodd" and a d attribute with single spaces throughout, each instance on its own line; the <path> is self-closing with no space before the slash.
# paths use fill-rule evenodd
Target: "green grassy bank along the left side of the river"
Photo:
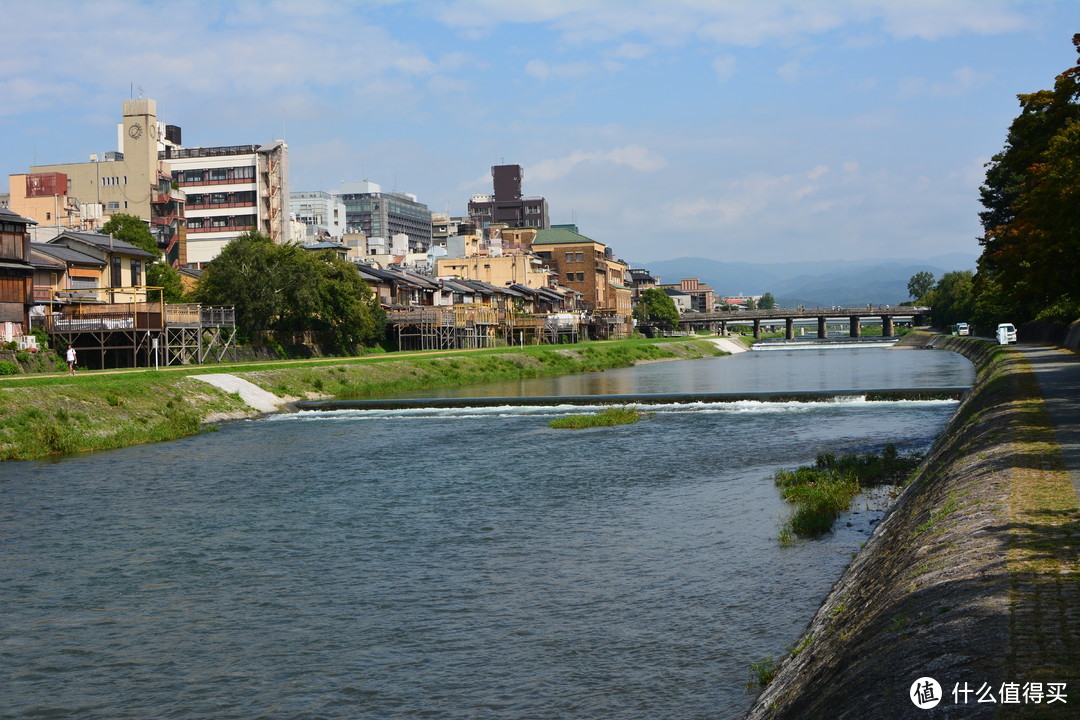
<path id="1" fill-rule="evenodd" d="M 239 395 L 191 375 L 229 372 L 286 398 L 364 397 L 723 354 L 707 341 L 635 339 L 4 378 L 0 380 L 0 460 L 176 439 L 205 429 L 207 420 L 256 415 Z"/>

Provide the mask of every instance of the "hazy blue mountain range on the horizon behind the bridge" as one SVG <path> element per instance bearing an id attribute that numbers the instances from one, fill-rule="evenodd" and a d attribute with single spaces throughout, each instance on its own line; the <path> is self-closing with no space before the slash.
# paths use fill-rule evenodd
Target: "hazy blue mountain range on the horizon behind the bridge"
<path id="1" fill-rule="evenodd" d="M 810 262 L 723 262 L 707 258 L 676 258 L 631 268 L 645 268 L 663 283 L 698 277 L 718 297 L 772 293 L 783 308 L 900 304 L 910 300 L 907 282 L 917 272 L 934 277 L 957 270 L 974 270 L 977 256 L 966 253 L 913 258 L 819 260 Z"/>

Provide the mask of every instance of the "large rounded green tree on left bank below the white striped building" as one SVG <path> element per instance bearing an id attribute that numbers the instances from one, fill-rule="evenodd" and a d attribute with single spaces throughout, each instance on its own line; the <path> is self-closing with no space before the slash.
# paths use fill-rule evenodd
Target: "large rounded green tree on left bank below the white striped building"
<path id="1" fill-rule="evenodd" d="M 233 305 L 248 338 L 271 330 L 312 330 L 349 347 L 382 339 L 386 315 L 350 263 L 299 245 L 278 245 L 249 230 L 203 271 L 195 297 Z"/>

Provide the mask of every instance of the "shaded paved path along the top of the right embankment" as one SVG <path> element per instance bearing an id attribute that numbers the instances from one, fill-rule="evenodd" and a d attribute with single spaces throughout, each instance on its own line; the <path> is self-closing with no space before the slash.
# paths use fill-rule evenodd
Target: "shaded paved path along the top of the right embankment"
<path id="1" fill-rule="evenodd" d="M 1016 345 L 1031 364 L 1072 488 L 1080 495 L 1080 355 L 1052 345 Z"/>

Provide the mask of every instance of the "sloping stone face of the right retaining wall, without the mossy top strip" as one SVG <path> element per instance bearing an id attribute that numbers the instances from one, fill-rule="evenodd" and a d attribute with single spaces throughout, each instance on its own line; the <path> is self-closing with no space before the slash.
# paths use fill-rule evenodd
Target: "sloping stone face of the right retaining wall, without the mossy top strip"
<path id="1" fill-rule="evenodd" d="M 996 707 L 908 698 L 929 676 L 997 688 L 1011 665 L 1010 405 L 1023 396 L 1014 349 L 913 334 L 904 345 L 959 352 L 978 378 L 931 453 L 836 583 L 805 636 L 745 716 L 989 718 Z"/>

